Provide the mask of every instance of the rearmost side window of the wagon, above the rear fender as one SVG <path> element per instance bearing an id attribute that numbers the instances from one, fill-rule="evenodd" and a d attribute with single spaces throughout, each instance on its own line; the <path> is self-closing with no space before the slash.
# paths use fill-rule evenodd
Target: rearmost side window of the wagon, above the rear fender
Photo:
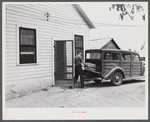
<path id="1" fill-rule="evenodd" d="M 119 60 L 119 53 L 104 53 L 104 60 Z"/>

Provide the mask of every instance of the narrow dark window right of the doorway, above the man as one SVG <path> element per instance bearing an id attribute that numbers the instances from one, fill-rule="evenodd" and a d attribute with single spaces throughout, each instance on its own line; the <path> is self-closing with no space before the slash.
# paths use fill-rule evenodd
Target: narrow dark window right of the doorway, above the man
<path id="1" fill-rule="evenodd" d="M 81 51 L 82 57 L 83 56 L 83 36 L 75 35 L 75 54 L 77 51 Z"/>

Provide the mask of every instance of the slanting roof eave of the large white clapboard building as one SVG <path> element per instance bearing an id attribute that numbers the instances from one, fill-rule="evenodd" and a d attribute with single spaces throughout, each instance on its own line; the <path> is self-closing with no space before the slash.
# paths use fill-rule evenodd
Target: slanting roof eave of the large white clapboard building
<path id="1" fill-rule="evenodd" d="M 87 17 L 85 12 L 82 10 L 82 8 L 78 4 L 73 4 L 74 8 L 77 10 L 77 12 L 81 15 L 85 23 L 88 25 L 90 29 L 95 28 L 93 23 L 90 21 L 90 19 Z"/>

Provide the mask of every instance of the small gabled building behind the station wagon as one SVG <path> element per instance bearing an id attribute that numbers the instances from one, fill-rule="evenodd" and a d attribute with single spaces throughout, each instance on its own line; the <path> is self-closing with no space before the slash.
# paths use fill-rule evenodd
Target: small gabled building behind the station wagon
<path id="1" fill-rule="evenodd" d="M 90 49 L 120 49 L 113 38 L 95 39 L 89 41 Z"/>

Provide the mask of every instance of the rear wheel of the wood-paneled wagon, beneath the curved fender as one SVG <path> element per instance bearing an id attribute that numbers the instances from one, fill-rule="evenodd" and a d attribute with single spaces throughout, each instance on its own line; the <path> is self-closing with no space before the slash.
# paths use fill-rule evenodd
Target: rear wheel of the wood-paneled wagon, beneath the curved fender
<path id="1" fill-rule="evenodd" d="M 119 86 L 123 82 L 123 76 L 122 73 L 116 72 L 115 75 L 113 76 L 113 79 L 111 80 L 112 85 L 114 86 Z"/>

